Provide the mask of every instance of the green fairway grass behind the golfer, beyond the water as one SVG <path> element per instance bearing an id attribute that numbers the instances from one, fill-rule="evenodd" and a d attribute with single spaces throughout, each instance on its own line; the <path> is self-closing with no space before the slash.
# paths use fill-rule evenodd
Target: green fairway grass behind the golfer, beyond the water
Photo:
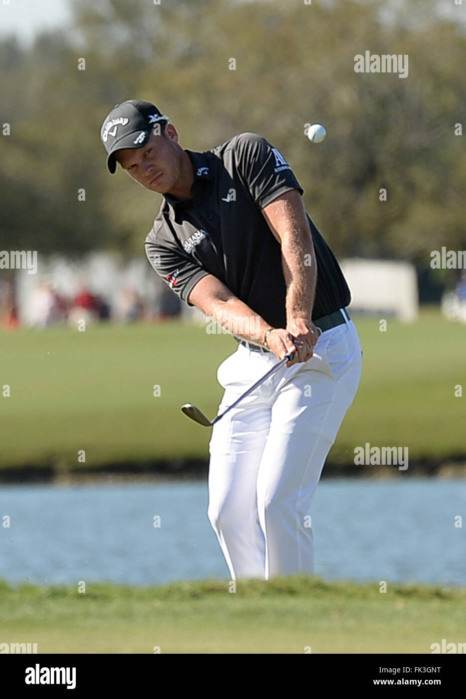
<path id="1" fill-rule="evenodd" d="M 466 326 L 425 310 L 419 322 L 356 319 L 363 378 L 329 461 L 352 463 L 354 447 L 409 448 L 409 460 L 466 456 Z M 180 322 L 100 324 L 0 333 L 0 467 L 208 458 L 209 417 L 223 389 L 216 368 L 236 349 L 225 334 Z M 160 396 L 153 386 L 160 385 Z M 78 463 L 84 449 L 86 462 Z"/>

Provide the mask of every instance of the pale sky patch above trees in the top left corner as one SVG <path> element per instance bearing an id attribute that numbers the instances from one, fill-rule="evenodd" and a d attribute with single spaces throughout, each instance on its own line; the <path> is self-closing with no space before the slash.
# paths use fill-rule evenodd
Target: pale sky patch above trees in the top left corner
<path id="1" fill-rule="evenodd" d="M 0 0 L 0 34 L 31 43 L 41 29 L 66 26 L 68 0 Z"/>

